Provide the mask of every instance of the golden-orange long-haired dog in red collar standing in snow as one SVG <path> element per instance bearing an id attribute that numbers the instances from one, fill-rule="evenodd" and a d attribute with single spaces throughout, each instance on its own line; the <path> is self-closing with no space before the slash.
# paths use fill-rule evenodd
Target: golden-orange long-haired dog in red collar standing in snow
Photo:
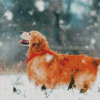
<path id="1" fill-rule="evenodd" d="M 91 89 L 97 78 L 100 59 L 86 55 L 59 54 L 49 48 L 46 38 L 38 31 L 21 32 L 19 43 L 29 46 L 27 75 L 29 81 L 42 89 L 57 85 L 76 88 L 81 93 Z"/>

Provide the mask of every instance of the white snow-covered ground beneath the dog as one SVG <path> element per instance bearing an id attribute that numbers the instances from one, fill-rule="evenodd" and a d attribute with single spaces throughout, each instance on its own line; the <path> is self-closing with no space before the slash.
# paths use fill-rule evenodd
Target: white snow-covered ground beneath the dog
<path id="1" fill-rule="evenodd" d="M 42 91 L 31 84 L 26 75 L 0 76 L 0 100 L 100 100 L 100 75 L 92 90 L 80 94 L 79 90 L 67 90 L 66 86 Z M 47 94 L 46 94 L 47 93 Z"/>

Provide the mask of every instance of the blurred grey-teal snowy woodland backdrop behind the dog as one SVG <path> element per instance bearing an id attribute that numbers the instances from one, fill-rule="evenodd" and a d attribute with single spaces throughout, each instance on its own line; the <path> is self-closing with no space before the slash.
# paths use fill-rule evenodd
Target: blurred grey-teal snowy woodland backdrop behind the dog
<path id="1" fill-rule="evenodd" d="M 100 57 L 99 0 L 0 0 L 0 72 L 26 68 L 28 47 L 20 31 L 36 30 L 50 48 L 65 54 Z"/>

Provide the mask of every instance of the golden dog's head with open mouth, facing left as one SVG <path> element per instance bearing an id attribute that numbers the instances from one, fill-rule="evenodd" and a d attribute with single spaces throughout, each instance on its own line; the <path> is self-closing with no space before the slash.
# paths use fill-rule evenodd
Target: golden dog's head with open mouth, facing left
<path id="1" fill-rule="evenodd" d="M 20 33 L 20 37 L 22 38 L 22 40 L 20 40 L 19 43 L 23 44 L 24 46 L 40 49 L 48 45 L 46 38 L 37 31 L 22 31 Z"/>

